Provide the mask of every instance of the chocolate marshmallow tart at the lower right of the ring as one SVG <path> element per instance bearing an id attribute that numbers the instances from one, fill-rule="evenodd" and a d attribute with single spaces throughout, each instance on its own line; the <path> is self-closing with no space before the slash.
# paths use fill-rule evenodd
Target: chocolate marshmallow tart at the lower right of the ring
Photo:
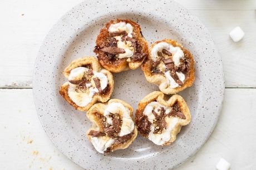
<path id="1" fill-rule="evenodd" d="M 139 102 L 135 114 L 140 135 L 161 146 L 174 142 L 181 127 L 190 122 L 189 108 L 181 96 L 164 98 L 161 91 L 151 92 Z"/>

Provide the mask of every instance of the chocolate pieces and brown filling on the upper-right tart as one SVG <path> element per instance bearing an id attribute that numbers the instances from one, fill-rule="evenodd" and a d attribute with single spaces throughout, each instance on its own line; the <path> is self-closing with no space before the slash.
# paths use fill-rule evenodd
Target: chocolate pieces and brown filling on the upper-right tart
<path id="1" fill-rule="evenodd" d="M 183 85 L 182 81 L 179 80 L 176 71 L 183 73 L 186 79 L 188 77 L 189 69 L 191 68 L 191 59 L 186 58 L 185 54 L 184 59 L 180 60 L 180 65 L 176 66 L 174 65 L 174 61 L 172 59 L 173 54 L 171 54 L 168 50 L 163 49 L 162 51 L 158 51 L 157 55 L 159 56 L 159 58 L 157 58 L 155 61 L 150 60 L 152 65 L 151 73 L 164 75 L 166 71 L 170 71 L 170 75 L 175 80 L 175 82 L 179 85 Z M 163 62 L 166 67 L 164 71 L 158 68 L 161 62 Z"/>

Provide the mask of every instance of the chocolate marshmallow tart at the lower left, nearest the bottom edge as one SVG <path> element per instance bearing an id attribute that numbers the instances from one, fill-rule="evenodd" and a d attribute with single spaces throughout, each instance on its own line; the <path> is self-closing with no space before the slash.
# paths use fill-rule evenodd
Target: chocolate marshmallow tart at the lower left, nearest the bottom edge
<path id="1" fill-rule="evenodd" d="M 137 136 L 132 107 L 119 99 L 98 103 L 87 111 L 93 123 L 87 137 L 100 153 L 127 148 Z"/>

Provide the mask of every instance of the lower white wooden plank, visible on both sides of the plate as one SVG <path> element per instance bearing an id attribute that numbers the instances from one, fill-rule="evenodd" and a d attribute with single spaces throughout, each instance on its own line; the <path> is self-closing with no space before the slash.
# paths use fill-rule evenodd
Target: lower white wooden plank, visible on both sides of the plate
<path id="1" fill-rule="evenodd" d="M 32 89 L 0 89 L 0 96 L 1 169 L 82 169 L 63 156 L 43 131 Z M 223 111 L 213 134 L 178 169 L 215 169 L 220 157 L 234 170 L 256 169 L 255 96 L 256 89 L 225 89 Z"/>

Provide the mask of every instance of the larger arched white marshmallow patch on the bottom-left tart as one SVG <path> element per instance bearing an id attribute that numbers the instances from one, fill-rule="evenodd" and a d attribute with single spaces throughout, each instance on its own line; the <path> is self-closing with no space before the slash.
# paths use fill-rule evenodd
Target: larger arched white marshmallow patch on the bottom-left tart
<path id="1" fill-rule="evenodd" d="M 130 116 L 130 110 L 123 104 L 119 102 L 111 102 L 107 105 L 107 108 L 104 111 L 104 116 L 107 119 L 107 123 L 112 125 L 112 118 L 110 117 L 110 114 L 119 114 L 122 116 L 122 126 L 119 136 L 127 135 L 134 130 L 134 121 L 132 121 Z"/>

